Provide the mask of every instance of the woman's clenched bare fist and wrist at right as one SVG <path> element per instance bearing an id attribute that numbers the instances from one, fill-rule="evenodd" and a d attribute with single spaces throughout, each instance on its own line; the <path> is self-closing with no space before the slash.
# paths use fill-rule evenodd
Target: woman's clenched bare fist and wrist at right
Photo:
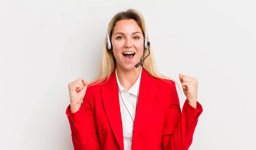
<path id="1" fill-rule="evenodd" d="M 183 76 L 182 74 L 179 74 L 179 77 L 187 101 L 192 107 L 196 108 L 198 79 L 187 75 Z"/>

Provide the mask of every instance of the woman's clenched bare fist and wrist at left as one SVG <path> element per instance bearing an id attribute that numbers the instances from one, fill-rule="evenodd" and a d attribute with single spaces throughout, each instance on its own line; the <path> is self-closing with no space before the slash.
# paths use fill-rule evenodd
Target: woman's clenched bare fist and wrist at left
<path id="1" fill-rule="evenodd" d="M 71 113 L 75 113 L 81 108 L 81 102 L 84 99 L 87 85 L 88 82 L 82 78 L 76 79 L 68 84 Z"/>

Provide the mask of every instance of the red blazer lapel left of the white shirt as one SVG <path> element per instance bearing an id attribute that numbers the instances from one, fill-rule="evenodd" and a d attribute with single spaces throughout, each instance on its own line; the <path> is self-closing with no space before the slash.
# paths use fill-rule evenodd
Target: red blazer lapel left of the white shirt
<path id="1" fill-rule="evenodd" d="M 121 150 L 124 150 L 122 118 L 116 76 L 113 72 L 108 81 L 101 85 L 102 101 L 111 129 Z"/>

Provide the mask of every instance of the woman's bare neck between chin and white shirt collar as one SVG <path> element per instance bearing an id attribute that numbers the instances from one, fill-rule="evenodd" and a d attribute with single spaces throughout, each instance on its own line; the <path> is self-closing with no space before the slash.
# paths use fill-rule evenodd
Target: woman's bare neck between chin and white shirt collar
<path id="1" fill-rule="evenodd" d="M 140 76 L 142 66 L 134 68 L 132 70 L 125 70 L 121 66 L 116 66 L 116 75 L 120 84 L 125 90 L 129 90 L 137 81 Z"/>

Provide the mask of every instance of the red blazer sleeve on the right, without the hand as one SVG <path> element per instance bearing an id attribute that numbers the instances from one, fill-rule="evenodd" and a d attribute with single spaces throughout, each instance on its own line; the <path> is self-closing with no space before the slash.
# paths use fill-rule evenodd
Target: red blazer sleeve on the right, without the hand
<path id="1" fill-rule="evenodd" d="M 186 100 L 181 112 L 176 86 L 174 87 L 170 92 L 170 105 L 164 123 L 162 147 L 163 150 L 188 150 L 192 144 L 198 117 L 203 109 L 199 102 L 197 102 L 197 108 L 193 108 Z"/>

